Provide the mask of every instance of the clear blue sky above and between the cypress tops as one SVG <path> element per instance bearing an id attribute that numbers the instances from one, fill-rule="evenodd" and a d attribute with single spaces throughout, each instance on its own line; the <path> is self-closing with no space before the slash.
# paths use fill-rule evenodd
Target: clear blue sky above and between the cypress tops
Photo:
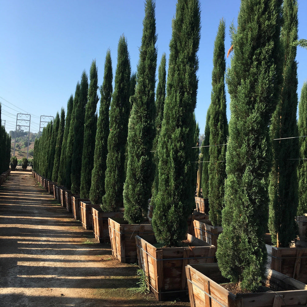
<path id="1" fill-rule="evenodd" d="M 163 52 L 168 61 L 176 3 L 175 0 L 156 0 L 157 67 Z M 240 1 L 201 0 L 200 3 L 202 29 L 195 112 L 200 133 L 204 133 L 217 28 L 223 17 L 227 27 L 227 52 L 229 25 L 237 21 Z M 307 39 L 307 0 L 298 0 L 298 6 L 298 36 Z M 100 86 L 108 48 L 115 76 L 121 34 L 127 38 L 131 69 L 136 71 L 143 29 L 143 0 L 0 0 L 0 7 L 0 102 L 7 131 L 15 130 L 17 113 L 31 114 L 30 130 L 38 132 L 41 115 L 55 116 L 61 107 L 66 110 L 69 96 L 74 94 L 83 70 L 89 74 L 93 59 L 98 66 Z M 306 49 L 297 49 L 297 61 L 300 96 L 307 79 Z M 226 64 L 230 65 L 230 57 Z M 228 95 L 227 106 L 229 120 Z"/>

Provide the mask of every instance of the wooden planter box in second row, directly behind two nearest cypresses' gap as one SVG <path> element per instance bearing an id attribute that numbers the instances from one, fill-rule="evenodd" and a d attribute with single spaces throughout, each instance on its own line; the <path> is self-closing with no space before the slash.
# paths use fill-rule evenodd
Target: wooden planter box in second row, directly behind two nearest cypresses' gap
<path id="1" fill-rule="evenodd" d="M 212 226 L 210 220 L 194 220 L 196 238 L 217 247 L 217 238 L 223 231 L 221 226 Z"/>

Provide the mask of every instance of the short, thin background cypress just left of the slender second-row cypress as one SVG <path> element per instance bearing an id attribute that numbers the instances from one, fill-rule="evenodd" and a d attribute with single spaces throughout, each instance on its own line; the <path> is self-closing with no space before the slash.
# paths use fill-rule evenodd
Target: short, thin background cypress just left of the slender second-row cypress
<path id="1" fill-rule="evenodd" d="M 203 173 L 201 176 L 201 188 L 202 188 L 202 194 L 204 198 L 208 198 L 209 194 L 209 140 L 210 140 L 210 105 L 207 110 L 207 116 L 206 116 L 206 126 L 205 126 L 205 138 L 201 144 L 201 153 L 203 155 Z"/>

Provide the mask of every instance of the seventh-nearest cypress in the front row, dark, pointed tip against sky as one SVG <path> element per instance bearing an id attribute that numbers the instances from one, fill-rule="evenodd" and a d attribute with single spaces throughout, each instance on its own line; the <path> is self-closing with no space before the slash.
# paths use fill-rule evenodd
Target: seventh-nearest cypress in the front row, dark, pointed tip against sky
<path id="1" fill-rule="evenodd" d="M 82 153 L 84 141 L 84 120 L 85 120 L 85 106 L 87 104 L 88 81 L 85 70 L 82 72 L 80 82 L 80 95 L 78 104 L 75 109 L 74 122 L 74 146 L 72 153 L 72 193 L 80 193 L 81 185 L 81 167 L 82 167 Z"/>

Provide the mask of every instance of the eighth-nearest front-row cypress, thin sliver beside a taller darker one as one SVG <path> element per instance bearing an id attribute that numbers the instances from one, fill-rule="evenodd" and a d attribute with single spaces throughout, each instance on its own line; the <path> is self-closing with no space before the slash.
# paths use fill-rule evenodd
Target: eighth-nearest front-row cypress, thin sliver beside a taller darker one
<path id="1" fill-rule="evenodd" d="M 68 138 L 67 138 L 67 148 L 66 148 L 65 182 L 66 182 L 66 187 L 69 189 L 72 186 L 71 173 L 72 173 L 72 154 L 74 150 L 74 126 L 75 126 L 76 108 L 79 102 L 79 97 L 80 97 L 80 82 L 78 81 L 76 85 L 76 91 L 75 91 L 75 96 L 73 99 L 73 104 L 72 104 L 72 117 L 71 117 L 70 126 L 69 126 L 69 133 L 68 133 Z"/>

